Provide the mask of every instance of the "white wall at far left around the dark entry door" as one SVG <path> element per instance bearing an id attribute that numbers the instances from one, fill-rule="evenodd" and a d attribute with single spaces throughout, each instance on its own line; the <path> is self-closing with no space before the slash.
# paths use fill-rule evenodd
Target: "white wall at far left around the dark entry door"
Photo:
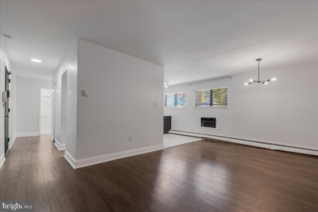
<path id="1" fill-rule="evenodd" d="M 0 167 L 4 162 L 4 107 L 2 106 L 2 91 L 5 90 L 5 66 L 11 71 L 10 75 L 10 99 L 9 99 L 9 147 L 15 139 L 15 92 L 16 92 L 16 75 L 6 53 L 3 36 L 0 37 Z"/>

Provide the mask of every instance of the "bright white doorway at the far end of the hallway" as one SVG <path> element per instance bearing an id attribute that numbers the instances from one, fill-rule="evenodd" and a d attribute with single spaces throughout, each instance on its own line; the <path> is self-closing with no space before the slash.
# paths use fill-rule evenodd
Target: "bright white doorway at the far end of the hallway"
<path id="1" fill-rule="evenodd" d="M 40 88 L 40 135 L 51 134 L 52 90 Z"/>

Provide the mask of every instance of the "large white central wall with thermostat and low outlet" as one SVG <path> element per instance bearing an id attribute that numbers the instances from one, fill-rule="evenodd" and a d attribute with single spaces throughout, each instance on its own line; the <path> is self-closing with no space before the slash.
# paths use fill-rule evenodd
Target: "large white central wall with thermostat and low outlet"
<path id="1" fill-rule="evenodd" d="M 78 54 L 77 160 L 163 146 L 163 67 L 83 40 Z"/>

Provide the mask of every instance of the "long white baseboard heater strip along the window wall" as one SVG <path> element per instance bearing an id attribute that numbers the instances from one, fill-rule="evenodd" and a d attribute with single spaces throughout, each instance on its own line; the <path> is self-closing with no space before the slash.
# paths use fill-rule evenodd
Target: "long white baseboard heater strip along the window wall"
<path id="1" fill-rule="evenodd" d="M 310 148 L 299 147 L 299 146 L 289 146 L 289 145 L 283 145 L 283 144 L 279 144 L 279 143 L 269 143 L 269 142 L 263 142 L 263 141 L 251 141 L 251 140 L 229 138 L 229 137 L 223 137 L 223 136 L 213 136 L 213 135 L 198 134 L 198 133 L 190 133 L 190 132 L 183 132 L 183 131 L 176 131 L 176 130 L 170 130 L 169 133 L 184 135 L 184 136 L 193 136 L 193 137 L 198 137 L 198 138 L 214 139 L 214 140 L 220 140 L 220 141 L 228 141 L 228 142 L 232 142 L 232 143 L 257 146 L 257 147 L 267 148 L 267 149 L 272 149 L 272 150 L 290 151 L 290 152 L 318 156 L 318 149 L 310 149 Z"/>

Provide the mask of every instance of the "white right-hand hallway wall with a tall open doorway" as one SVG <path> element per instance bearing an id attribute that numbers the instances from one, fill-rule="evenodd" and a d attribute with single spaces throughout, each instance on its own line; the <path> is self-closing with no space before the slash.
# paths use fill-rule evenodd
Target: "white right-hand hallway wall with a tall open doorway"
<path id="1" fill-rule="evenodd" d="M 61 89 L 62 89 L 62 74 L 67 70 L 67 139 L 66 143 L 61 143 Z M 77 70 L 78 70 L 78 45 L 77 41 L 70 49 L 60 67 L 56 71 L 52 80 L 52 89 L 57 89 L 57 98 L 55 93 L 52 93 L 52 114 L 56 111 L 56 123 L 52 117 L 52 134 L 54 134 L 54 126 L 56 131 L 56 144 L 58 148 L 66 148 L 66 152 L 76 158 L 76 122 L 77 122 Z M 56 110 L 55 110 L 56 109 Z M 53 138 L 54 135 L 51 137 Z"/>

